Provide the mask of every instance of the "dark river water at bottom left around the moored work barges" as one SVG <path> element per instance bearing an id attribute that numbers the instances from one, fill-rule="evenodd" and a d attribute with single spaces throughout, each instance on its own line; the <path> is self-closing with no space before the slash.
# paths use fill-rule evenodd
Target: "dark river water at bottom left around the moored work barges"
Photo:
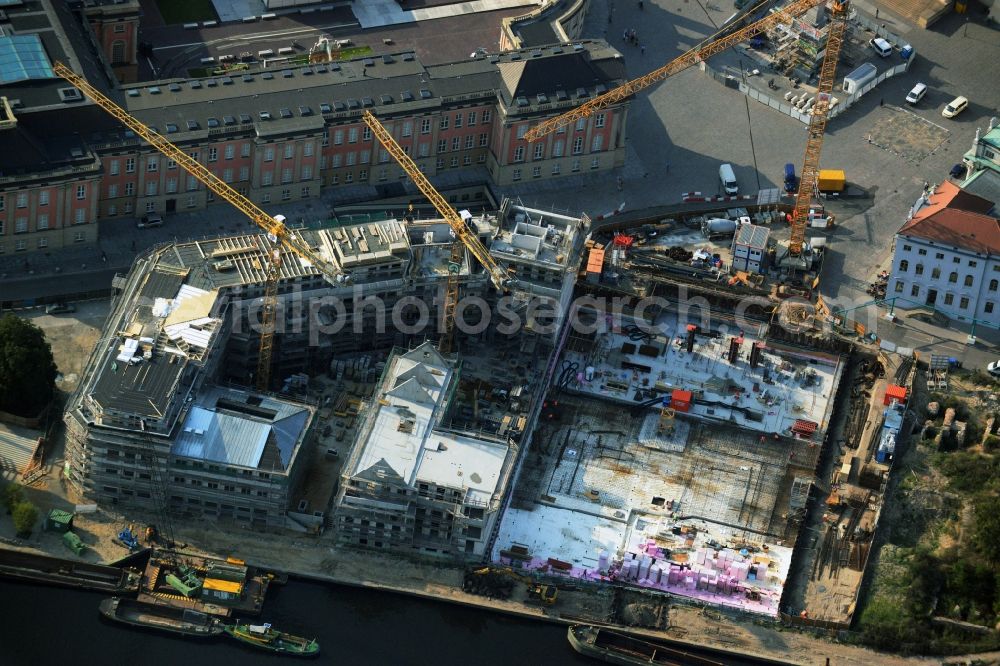
<path id="1" fill-rule="evenodd" d="M 306 660 L 230 638 L 183 638 L 105 620 L 108 595 L 0 579 L 3 666 L 253 666 Z M 291 580 L 268 592 L 261 620 L 319 640 L 311 663 L 415 666 L 596 664 L 577 655 L 562 625 L 386 592 Z"/>

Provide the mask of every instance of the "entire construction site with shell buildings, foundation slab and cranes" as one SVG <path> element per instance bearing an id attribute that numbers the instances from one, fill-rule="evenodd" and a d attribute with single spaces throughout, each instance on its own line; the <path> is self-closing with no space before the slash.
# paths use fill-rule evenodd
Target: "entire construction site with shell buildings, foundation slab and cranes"
<path id="1" fill-rule="evenodd" d="M 437 216 L 292 226 L 57 64 L 264 232 L 168 243 L 119 278 L 67 405 L 65 478 L 102 504 L 158 512 L 168 534 L 180 516 L 461 562 L 473 593 L 502 570 L 546 606 L 546 586 L 581 581 L 798 615 L 810 586 L 822 595 L 820 581 L 864 568 L 906 397 L 882 390 L 884 363 L 858 368 L 853 336 L 830 334 L 836 313 L 816 292 L 824 243 L 807 230 L 833 224 L 816 177 L 847 22 L 844 3 L 824 11 L 798 189 L 639 219 L 510 198 L 456 210 L 365 111 L 354 120 Z M 882 400 L 882 419 L 861 406 Z M 847 445 L 836 478 L 834 441 L 863 443 Z M 821 599 L 837 626 L 853 612 L 841 596 Z"/>

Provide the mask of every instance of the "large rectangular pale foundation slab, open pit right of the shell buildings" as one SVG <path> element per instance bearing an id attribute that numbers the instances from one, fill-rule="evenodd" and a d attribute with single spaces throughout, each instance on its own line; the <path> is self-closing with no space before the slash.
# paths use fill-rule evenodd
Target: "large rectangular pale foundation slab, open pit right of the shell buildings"
<path id="1" fill-rule="evenodd" d="M 570 332 L 494 557 L 776 615 L 844 363 L 729 330 Z"/>

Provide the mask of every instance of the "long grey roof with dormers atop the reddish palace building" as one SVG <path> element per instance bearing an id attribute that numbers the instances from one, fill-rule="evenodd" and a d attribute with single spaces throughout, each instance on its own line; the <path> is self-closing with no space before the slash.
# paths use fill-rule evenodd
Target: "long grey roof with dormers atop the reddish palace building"
<path id="1" fill-rule="evenodd" d="M 433 66 L 401 57 L 391 63 L 370 59 L 374 63 L 370 66 L 365 66 L 366 60 L 136 84 L 125 88 L 124 103 L 130 113 L 161 132 L 170 123 L 177 127 L 177 138 L 201 140 L 209 136 L 209 118 L 249 116 L 249 123 L 222 125 L 211 130 L 216 133 L 301 131 L 297 124 L 318 129 L 324 117 L 356 121 L 364 108 L 380 116 L 412 115 L 421 109 L 461 103 L 465 100 L 460 98 L 467 95 L 493 96 L 503 89 L 554 94 L 557 89 L 584 87 L 594 94 L 598 84 L 607 86 L 624 75 L 620 54 L 603 41 Z M 518 75 L 511 78 L 501 73 L 505 63 L 518 61 L 514 67 Z M 289 101 L 290 94 L 294 103 Z M 370 100 L 370 106 L 365 106 L 365 100 Z M 324 105 L 328 112 L 322 110 Z M 300 107 L 308 107 L 305 118 Z M 291 111 L 292 117 L 281 118 L 282 108 Z M 261 120 L 261 111 L 270 112 L 271 119 Z M 189 132 L 189 120 L 197 122 L 198 129 Z"/>

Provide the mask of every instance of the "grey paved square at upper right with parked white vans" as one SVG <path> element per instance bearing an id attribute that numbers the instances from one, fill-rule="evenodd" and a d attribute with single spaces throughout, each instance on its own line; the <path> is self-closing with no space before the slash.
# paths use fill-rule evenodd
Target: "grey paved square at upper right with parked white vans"
<path id="1" fill-rule="evenodd" d="M 601 10 L 604 4 L 605 10 Z M 585 25 L 587 36 L 605 36 L 625 55 L 629 75 L 645 74 L 700 42 L 728 16 L 728 3 L 686 0 L 613 3 L 594 0 Z M 864 9 L 867 3 L 855 3 Z M 725 5 L 724 7 L 722 5 Z M 921 30 L 880 13 L 887 28 L 916 49 L 916 60 L 903 76 L 886 80 L 827 126 L 821 166 L 844 169 L 848 180 L 870 193 L 858 200 L 830 203 L 838 225 L 829 236 L 822 292 L 833 307 L 850 308 L 869 302 L 865 289 L 872 276 L 888 267 L 895 232 L 923 183 L 947 179 L 973 142 L 976 128 L 985 128 L 1000 107 L 1000 86 L 989 63 L 1000 62 L 996 30 L 965 17 L 951 15 L 932 30 Z M 639 47 L 622 40 L 622 30 L 636 28 Z M 727 52 L 713 59 L 717 68 L 739 63 L 739 54 Z M 763 74 L 767 76 L 767 73 Z M 930 90 L 916 106 L 905 104 L 916 82 Z M 955 119 L 941 116 L 944 105 L 959 94 L 971 100 Z M 874 134 L 881 140 L 868 142 Z M 733 165 L 741 191 L 780 187 L 786 162 L 801 164 L 805 126 L 728 89 L 696 68 L 639 93 L 629 111 L 628 157 L 623 169 L 624 191 L 614 177 L 592 178 L 585 186 L 558 188 L 552 184 L 521 186 L 526 203 L 539 205 L 572 201 L 592 213 L 611 210 L 619 202 L 628 209 L 646 208 L 679 200 L 683 192 L 718 194 L 718 167 Z M 565 205 L 565 204 L 564 204 Z M 779 238 L 787 230 L 775 229 Z M 815 235 L 815 234 L 812 234 Z M 965 345 L 966 329 L 940 328 L 903 321 L 890 325 L 875 308 L 868 312 L 869 330 L 904 346 L 929 353 L 948 353 L 971 366 L 1000 356 L 993 346 L 995 331 L 977 331 L 979 344 Z M 990 338 L 993 338 L 992 340 Z"/>

